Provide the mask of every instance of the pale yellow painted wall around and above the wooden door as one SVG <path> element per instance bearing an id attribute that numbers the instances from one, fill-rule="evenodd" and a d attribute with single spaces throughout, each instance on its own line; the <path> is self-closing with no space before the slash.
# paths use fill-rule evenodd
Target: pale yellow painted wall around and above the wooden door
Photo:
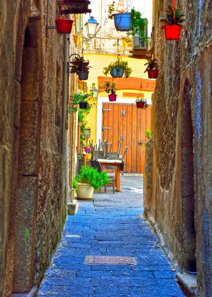
<path id="1" fill-rule="evenodd" d="M 89 66 L 92 68 L 89 68 L 89 76 L 88 80 L 86 81 L 88 91 L 92 89 L 92 84 L 95 83 L 96 89 L 98 89 L 98 76 L 103 76 L 103 67 L 108 66 L 111 62 L 114 61 L 115 55 L 111 54 L 84 54 L 85 60 L 89 60 Z M 147 72 L 144 73 L 144 70 L 146 69 L 146 66 L 144 64 L 147 62 L 144 59 L 134 59 L 134 58 L 129 58 L 128 56 L 122 56 L 124 61 L 128 61 L 128 66 L 132 68 L 132 77 L 138 77 L 138 78 L 143 78 L 143 79 L 148 79 L 148 74 Z M 109 77 L 109 76 L 108 76 Z M 111 76 L 110 76 L 111 77 Z M 130 77 L 127 78 L 130 80 Z M 138 90 L 128 90 L 128 89 L 123 89 L 124 92 L 131 92 L 131 93 L 138 93 Z M 130 97 L 123 97 L 123 90 L 118 90 L 117 91 L 117 97 L 118 98 L 123 98 L 124 99 L 129 99 Z M 144 94 L 145 99 L 151 99 L 152 93 L 149 91 L 142 91 Z M 105 97 L 106 102 L 108 100 L 108 94 L 105 92 L 100 92 L 99 97 Z M 131 97 L 132 98 L 132 97 Z M 136 98 L 132 98 L 135 99 Z M 94 102 L 98 104 L 98 100 L 94 99 Z M 90 101 L 90 103 L 93 103 L 93 100 Z M 86 120 L 88 121 L 87 126 L 90 127 L 90 139 L 92 139 L 94 142 L 96 140 L 96 120 L 97 120 L 97 114 L 96 114 L 96 105 L 93 105 L 91 112 L 87 116 Z"/>

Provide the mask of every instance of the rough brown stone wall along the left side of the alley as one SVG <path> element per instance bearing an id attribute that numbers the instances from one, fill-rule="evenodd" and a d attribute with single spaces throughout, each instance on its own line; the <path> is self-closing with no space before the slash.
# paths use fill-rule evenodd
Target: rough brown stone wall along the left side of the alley
<path id="1" fill-rule="evenodd" d="M 75 147 L 69 142 L 70 135 L 75 142 L 75 126 L 68 114 L 68 43 L 46 29 L 46 5 L 0 2 L 2 297 L 39 284 L 67 215 Z M 49 25 L 55 15 L 56 2 L 50 0 Z"/>

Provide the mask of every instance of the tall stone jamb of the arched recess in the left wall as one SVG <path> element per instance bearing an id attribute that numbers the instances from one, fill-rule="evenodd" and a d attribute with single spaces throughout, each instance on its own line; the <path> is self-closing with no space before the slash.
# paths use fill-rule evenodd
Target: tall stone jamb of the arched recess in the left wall
<path id="1" fill-rule="evenodd" d="M 29 19 L 24 35 L 21 81 L 13 293 L 33 286 L 41 135 L 41 59 L 38 23 Z"/>

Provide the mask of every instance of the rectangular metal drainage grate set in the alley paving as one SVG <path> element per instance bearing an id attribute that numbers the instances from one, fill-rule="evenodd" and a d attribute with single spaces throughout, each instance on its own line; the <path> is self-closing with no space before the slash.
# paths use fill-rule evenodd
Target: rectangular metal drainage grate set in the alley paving
<path id="1" fill-rule="evenodd" d="M 134 257 L 85 256 L 85 264 L 136 265 Z"/>

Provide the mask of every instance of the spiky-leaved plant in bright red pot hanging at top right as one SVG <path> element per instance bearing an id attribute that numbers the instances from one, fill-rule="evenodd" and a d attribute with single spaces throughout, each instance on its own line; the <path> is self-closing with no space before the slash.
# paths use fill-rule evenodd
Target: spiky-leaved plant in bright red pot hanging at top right
<path id="1" fill-rule="evenodd" d="M 165 31 L 165 38 L 167 40 L 179 40 L 180 31 L 182 29 L 182 23 L 186 21 L 183 18 L 184 14 L 181 14 L 180 8 L 175 6 L 168 6 L 169 9 L 164 12 L 164 16 L 160 17 L 161 22 L 165 25 L 163 29 Z"/>

